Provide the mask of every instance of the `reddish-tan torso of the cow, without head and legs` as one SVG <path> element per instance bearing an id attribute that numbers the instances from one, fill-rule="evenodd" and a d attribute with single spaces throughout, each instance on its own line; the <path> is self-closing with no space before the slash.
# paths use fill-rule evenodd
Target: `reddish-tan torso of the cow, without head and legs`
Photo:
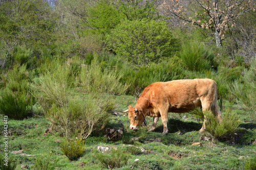
<path id="1" fill-rule="evenodd" d="M 143 93 L 147 94 L 153 108 L 169 107 L 169 112 L 180 113 L 200 106 L 200 97 L 212 93 L 216 88 L 215 81 L 210 79 L 174 80 L 153 83 Z"/>

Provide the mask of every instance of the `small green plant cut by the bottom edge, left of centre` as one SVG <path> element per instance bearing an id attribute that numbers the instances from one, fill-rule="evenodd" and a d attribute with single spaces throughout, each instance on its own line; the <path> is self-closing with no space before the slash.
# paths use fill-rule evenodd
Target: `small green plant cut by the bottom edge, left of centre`
<path id="1" fill-rule="evenodd" d="M 58 159 L 54 158 L 52 154 L 47 156 L 38 156 L 36 158 L 34 169 L 36 170 L 54 170 L 57 166 Z"/>

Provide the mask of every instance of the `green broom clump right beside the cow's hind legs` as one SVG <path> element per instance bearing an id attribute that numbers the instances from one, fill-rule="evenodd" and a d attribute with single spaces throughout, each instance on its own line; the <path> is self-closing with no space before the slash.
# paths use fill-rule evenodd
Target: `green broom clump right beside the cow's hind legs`
<path id="1" fill-rule="evenodd" d="M 231 109 L 227 109 L 222 122 L 219 123 L 217 117 L 211 112 L 205 111 L 206 131 L 218 140 L 226 140 L 234 135 L 234 132 L 240 125 L 238 115 L 233 113 Z"/>

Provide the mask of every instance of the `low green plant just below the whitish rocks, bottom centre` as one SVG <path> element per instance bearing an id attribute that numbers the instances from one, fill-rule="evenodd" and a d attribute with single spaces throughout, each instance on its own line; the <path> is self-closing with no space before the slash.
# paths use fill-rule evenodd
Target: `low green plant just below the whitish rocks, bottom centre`
<path id="1" fill-rule="evenodd" d="M 110 153 L 96 153 L 95 157 L 100 161 L 103 167 L 114 169 L 126 165 L 129 154 L 120 149 L 112 149 Z"/>

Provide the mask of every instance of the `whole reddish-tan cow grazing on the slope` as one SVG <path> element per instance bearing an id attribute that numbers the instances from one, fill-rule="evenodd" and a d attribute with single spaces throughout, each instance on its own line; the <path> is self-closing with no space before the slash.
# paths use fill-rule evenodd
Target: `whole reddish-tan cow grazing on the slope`
<path id="1" fill-rule="evenodd" d="M 163 123 L 163 133 L 167 134 L 168 112 L 185 113 L 196 107 L 204 112 L 204 123 L 199 132 L 205 131 L 205 111 L 214 114 L 222 122 L 218 109 L 217 83 L 211 79 L 174 80 L 156 82 L 148 85 L 139 96 L 137 104 L 123 112 L 129 112 L 130 129 L 137 130 L 145 122 L 147 115 L 153 117 L 153 124 L 148 132 L 154 131 L 159 117 Z"/>

